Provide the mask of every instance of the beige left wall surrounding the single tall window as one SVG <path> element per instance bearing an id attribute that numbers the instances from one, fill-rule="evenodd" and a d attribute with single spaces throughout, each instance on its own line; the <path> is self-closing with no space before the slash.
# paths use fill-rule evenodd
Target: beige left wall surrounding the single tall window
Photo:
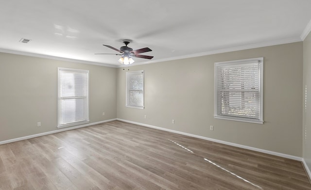
<path id="1" fill-rule="evenodd" d="M 57 67 L 89 70 L 90 123 L 116 118 L 116 68 L 0 53 L 0 141 L 57 130 Z"/>

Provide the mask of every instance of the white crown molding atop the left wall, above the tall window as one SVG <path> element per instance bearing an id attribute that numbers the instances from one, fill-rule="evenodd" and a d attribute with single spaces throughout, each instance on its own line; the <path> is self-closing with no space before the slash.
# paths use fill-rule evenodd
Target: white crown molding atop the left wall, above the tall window
<path id="1" fill-rule="evenodd" d="M 48 58 L 48 59 L 54 59 L 54 60 L 60 60 L 60 61 L 83 63 L 83 64 L 89 64 L 89 65 L 99 65 L 99 66 L 115 67 L 115 68 L 118 67 L 117 65 L 111 65 L 111 64 L 106 64 L 106 63 L 97 63 L 97 62 L 91 62 L 91 61 L 84 61 L 84 60 L 71 59 L 71 58 L 65 58 L 65 57 L 48 56 L 48 55 L 35 54 L 35 53 L 29 53 L 29 52 L 20 52 L 20 51 L 7 50 L 7 49 L 0 49 L 0 52 L 8 53 L 8 54 L 16 54 L 16 55 L 21 55 L 21 56 L 40 57 L 40 58 Z"/>

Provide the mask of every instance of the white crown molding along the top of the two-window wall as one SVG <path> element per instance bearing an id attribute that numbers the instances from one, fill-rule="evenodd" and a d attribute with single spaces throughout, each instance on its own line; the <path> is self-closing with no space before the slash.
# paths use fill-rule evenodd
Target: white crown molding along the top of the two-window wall
<path id="1" fill-rule="evenodd" d="M 137 64 L 134 64 L 131 66 L 156 63 L 156 62 L 163 62 L 163 61 L 171 61 L 171 60 L 191 58 L 191 57 L 201 57 L 201 56 L 221 54 L 221 53 L 226 53 L 226 52 L 234 52 L 234 51 L 247 50 L 247 49 L 253 49 L 253 48 L 260 48 L 260 47 L 267 47 L 267 46 L 280 45 L 280 44 L 286 44 L 286 43 L 294 43 L 294 42 L 299 42 L 299 41 L 302 41 L 301 38 L 288 38 L 288 39 L 282 39 L 282 40 L 276 40 L 276 41 L 270 41 L 270 42 L 256 43 L 256 44 L 251 44 L 251 45 L 237 46 L 237 47 L 232 47 L 232 48 L 224 48 L 224 49 L 219 49 L 219 50 L 202 52 L 202 53 L 198 53 L 198 54 L 190 54 L 190 55 L 185 55 L 185 56 L 156 59 L 156 60 L 152 60 L 152 61 L 137 63 Z M 119 67 L 123 67 L 123 66 L 119 66 Z"/>

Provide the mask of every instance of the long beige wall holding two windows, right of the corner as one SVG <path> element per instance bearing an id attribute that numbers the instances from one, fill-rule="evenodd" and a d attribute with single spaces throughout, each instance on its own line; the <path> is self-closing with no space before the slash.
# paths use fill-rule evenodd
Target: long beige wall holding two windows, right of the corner
<path id="1" fill-rule="evenodd" d="M 264 57 L 264 124 L 214 119 L 214 62 L 255 57 Z M 130 67 L 136 70 L 145 71 L 145 109 L 125 107 L 127 70 L 118 69 L 118 118 L 302 156 L 302 42 Z"/>

